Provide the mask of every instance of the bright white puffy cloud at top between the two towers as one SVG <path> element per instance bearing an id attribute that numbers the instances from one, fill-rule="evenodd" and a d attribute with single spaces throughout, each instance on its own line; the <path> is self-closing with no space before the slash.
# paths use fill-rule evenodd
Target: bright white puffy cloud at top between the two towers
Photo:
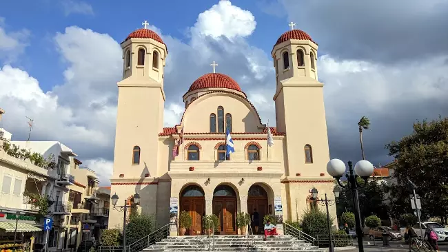
<path id="1" fill-rule="evenodd" d="M 218 39 L 225 36 L 234 39 L 237 36 L 249 36 L 255 30 L 255 17 L 252 12 L 232 6 L 227 0 L 221 0 L 209 10 L 199 14 L 193 32 Z"/>

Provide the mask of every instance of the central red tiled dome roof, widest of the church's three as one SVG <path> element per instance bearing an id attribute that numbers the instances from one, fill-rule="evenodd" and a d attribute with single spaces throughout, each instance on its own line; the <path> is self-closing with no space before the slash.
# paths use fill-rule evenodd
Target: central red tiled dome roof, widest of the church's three
<path id="1" fill-rule="evenodd" d="M 238 83 L 236 83 L 236 81 L 234 81 L 233 78 L 230 78 L 225 74 L 218 74 L 218 73 L 204 74 L 203 76 L 199 77 L 190 86 L 188 92 L 210 87 L 228 88 L 230 90 L 236 90 L 242 92 L 240 85 L 238 85 Z"/>

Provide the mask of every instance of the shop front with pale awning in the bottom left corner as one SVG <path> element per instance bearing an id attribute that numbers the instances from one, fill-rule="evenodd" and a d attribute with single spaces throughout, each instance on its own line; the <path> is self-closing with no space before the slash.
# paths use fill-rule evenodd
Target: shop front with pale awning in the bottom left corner
<path id="1" fill-rule="evenodd" d="M 0 213 L 0 249 L 1 252 L 21 252 L 31 245 L 31 241 L 42 233 L 40 218 L 32 213 Z M 16 242 L 14 243 L 14 235 Z M 35 242 L 35 241 L 34 241 Z"/>

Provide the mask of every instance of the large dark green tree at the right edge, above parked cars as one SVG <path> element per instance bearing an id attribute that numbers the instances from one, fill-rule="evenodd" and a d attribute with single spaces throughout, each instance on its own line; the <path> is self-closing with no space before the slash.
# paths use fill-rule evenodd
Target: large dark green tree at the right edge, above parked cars
<path id="1" fill-rule="evenodd" d="M 403 191 L 397 206 L 409 209 L 409 178 L 418 187 L 423 218 L 448 215 L 448 118 L 414 123 L 414 130 L 398 142 L 386 145 L 389 155 L 396 158 L 394 178 L 397 190 Z"/>

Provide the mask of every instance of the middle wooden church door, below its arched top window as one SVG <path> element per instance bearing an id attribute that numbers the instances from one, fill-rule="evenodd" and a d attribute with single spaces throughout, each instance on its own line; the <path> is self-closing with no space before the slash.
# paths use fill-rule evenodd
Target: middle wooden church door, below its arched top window
<path id="1" fill-rule="evenodd" d="M 213 214 L 218 216 L 219 234 L 236 234 L 236 198 L 214 198 Z"/>

